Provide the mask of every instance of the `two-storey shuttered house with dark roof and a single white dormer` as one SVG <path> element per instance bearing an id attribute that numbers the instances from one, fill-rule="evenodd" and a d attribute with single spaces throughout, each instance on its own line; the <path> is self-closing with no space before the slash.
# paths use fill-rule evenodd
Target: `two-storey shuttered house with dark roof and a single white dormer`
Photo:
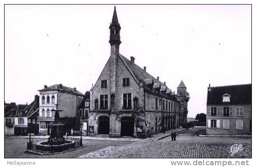
<path id="1" fill-rule="evenodd" d="M 251 134 L 251 84 L 211 87 L 207 93 L 208 135 Z"/>

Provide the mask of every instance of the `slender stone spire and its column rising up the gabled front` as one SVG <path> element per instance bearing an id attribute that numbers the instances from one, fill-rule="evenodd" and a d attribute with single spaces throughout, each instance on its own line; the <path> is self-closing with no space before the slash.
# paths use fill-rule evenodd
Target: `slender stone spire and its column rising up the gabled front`
<path id="1" fill-rule="evenodd" d="M 111 97 L 111 110 L 115 111 L 117 106 L 115 103 L 116 93 L 116 68 L 117 68 L 117 55 L 119 54 L 120 41 L 120 24 L 118 22 L 116 10 L 114 7 L 114 13 L 112 22 L 110 23 L 110 97 Z"/>

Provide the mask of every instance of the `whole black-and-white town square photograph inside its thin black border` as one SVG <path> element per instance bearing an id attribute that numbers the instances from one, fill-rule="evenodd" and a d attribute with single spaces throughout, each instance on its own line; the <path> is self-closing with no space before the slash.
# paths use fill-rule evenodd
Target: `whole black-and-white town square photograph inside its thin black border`
<path id="1" fill-rule="evenodd" d="M 252 5 L 5 4 L 2 59 L 9 166 L 252 158 Z"/>

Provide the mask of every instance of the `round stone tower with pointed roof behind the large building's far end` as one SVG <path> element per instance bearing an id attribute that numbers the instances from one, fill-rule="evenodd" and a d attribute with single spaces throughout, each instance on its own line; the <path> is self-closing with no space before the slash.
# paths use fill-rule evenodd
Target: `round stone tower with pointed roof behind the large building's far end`
<path id="1" fill-rule="evenodd" d="M 189 93 L 187 92 L 187 87 L 183 83 L 183 80 L 180 82 L 177 88 L 177 99 L 180 101 L 179 125 L 185 128 L 187 126 L 187 118 L 188 118 Z"/>

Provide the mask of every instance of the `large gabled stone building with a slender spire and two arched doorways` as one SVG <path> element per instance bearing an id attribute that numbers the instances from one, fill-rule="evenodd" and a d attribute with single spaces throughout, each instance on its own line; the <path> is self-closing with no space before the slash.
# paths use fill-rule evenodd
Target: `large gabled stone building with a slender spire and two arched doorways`
<path id="1" fill-rule="evenodd" d="M 119 53 L 121 27 L 116 9 L 109 29 L 110 58 L 90 90 L 89 135 L 146 138 L 178 128 L 178 95 L 159 77 L 148 74 L 146 67 L 136 65 L 134 57 L 129 60 Z"/>

